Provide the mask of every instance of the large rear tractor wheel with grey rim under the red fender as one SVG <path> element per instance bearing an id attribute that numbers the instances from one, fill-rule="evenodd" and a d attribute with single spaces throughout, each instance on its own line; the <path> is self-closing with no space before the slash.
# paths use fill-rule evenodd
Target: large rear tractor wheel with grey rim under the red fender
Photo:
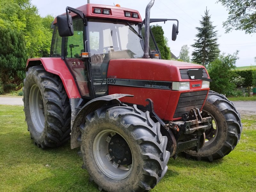
<path id="1" fill-rule="evenodd" d="M 42 66 L 28 69 L 23 87 L 25 121 L 38 147 L 58 147 L 70 139 L 69 99 L 59 76 Z"/>

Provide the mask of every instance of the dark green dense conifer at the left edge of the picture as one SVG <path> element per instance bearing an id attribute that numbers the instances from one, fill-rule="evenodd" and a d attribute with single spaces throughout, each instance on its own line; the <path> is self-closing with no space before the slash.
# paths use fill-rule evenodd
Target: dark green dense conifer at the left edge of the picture
<path id="1" fill-rule="evenodd" d="M 27 62 L 26 43 L 21 32 L 0 27 L 0 92 L 23 86 Z"/>

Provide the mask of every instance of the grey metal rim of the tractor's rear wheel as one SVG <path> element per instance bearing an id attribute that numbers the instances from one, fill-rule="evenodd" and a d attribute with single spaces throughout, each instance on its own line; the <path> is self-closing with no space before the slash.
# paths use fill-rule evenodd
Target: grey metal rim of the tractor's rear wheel
<path id="1" fill-rule="evenodd" d="M 44 102 L 37 85 L 32 85 L 29 93 L 29 110 L 32 123 L 37 132 L 41 133 L 44 130 Z"/>

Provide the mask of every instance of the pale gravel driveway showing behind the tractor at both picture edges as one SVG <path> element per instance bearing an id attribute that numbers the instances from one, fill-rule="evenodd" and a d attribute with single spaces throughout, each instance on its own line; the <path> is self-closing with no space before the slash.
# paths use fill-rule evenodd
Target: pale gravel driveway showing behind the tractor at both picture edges
<path id="1" fill-rule="evenodd" d="M 0 97 L 0 105 L 23 105 L 23 97 Z M 233 101 L 241 114 L 256 115 L 256 101 Z"/>

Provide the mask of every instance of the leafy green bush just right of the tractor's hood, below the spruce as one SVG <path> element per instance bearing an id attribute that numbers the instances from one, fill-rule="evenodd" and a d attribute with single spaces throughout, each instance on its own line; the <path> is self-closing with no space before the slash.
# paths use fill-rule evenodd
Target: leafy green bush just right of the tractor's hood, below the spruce
<path id="1" fill-rule="evenodd" d="M 210 83 L 212 91 L 228 94 L 228 92 L 231 92 L 236 87 L 230 80 L 235 77 L 231 69 L 236 68 L 237 55 L 238 51 L 233 55 L 225 55 L 223 53 L 209 64 L 208 73 L 212 79 Z"/>

